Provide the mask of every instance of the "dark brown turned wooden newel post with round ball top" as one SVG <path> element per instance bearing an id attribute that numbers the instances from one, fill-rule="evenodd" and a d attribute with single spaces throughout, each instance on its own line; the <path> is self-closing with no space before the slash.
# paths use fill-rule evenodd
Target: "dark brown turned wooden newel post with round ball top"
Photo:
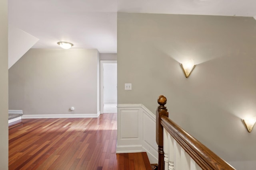
<path id="1" fill-rule="evenodd" d="M 168 117 L 168 111 L 164 106 L 167 102 L 165 96 L 158 97 L 157 102 L 159 106 L 156 109 L 156 143 L 158 145 L 158 170 L 164 170 L 164 129 L 160 123 L 162 115 Z"/>

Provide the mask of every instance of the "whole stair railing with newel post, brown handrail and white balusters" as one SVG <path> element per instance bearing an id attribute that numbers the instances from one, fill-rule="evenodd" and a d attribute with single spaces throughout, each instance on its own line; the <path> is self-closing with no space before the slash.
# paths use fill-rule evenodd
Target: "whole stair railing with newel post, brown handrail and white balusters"
<path id="1" fill-rule="evenodd" d="M 214 152 L 168 118 L 165 96 L 158 97 L 156 143 L 159 170 L 234 170 Z"/>

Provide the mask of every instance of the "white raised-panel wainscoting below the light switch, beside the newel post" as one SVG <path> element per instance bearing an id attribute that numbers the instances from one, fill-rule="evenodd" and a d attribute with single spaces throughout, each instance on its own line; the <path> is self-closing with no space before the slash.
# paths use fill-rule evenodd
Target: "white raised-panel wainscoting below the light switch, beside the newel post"
<path id="1" fill-rule="evenodd" d="M 118 104 L 116 153 L 147 152 L 158 163 L 156 115 L 142 104 Z"/>

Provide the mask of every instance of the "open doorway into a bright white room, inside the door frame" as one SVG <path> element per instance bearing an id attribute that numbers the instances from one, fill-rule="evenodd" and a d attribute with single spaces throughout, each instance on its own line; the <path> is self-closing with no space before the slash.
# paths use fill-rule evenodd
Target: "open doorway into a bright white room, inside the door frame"
<path id="1" fill-rule="evenodd" d="M 100 113 L 117 113 L 117 61 L 100 61 Z"/>

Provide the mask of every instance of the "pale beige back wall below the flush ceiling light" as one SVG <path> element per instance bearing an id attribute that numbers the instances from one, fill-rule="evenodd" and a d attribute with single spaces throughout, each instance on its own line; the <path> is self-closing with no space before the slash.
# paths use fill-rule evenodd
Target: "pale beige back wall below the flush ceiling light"
<path id="1" fill-rule="evenodd" d="M 30 49 L 9 69 L 9 109 L 24 115 L 96 114 L 98 71 L 96 49 Z"/>

